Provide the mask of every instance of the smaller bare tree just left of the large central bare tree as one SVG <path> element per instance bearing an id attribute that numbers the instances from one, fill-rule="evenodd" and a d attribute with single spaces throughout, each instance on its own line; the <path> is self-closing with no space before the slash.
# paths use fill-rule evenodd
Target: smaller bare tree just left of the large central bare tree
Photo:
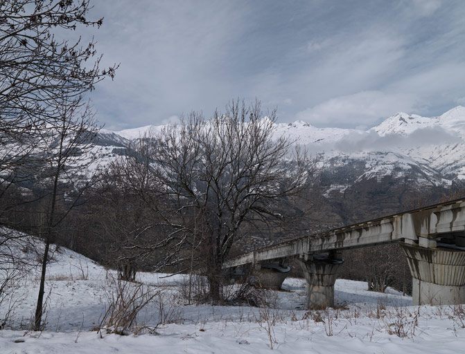
<path id="1" fill-rule="evenodd" d="M 100 235 L 106 245 L 104 262 L 119 269 L 120 279 L 134 281 L 138 270 L 150 269 L 148 258 L 154 256 L 141 254 L 134 245 L 147 247 L 159 242 L 163 230 L 155 227 L 151 209 L 140 197 L 150 193 L 143 162 L 134 165 L 129 160 L 119 158 L 99 174 L 88 207 L 96 216 L 96 237 Z"/>

